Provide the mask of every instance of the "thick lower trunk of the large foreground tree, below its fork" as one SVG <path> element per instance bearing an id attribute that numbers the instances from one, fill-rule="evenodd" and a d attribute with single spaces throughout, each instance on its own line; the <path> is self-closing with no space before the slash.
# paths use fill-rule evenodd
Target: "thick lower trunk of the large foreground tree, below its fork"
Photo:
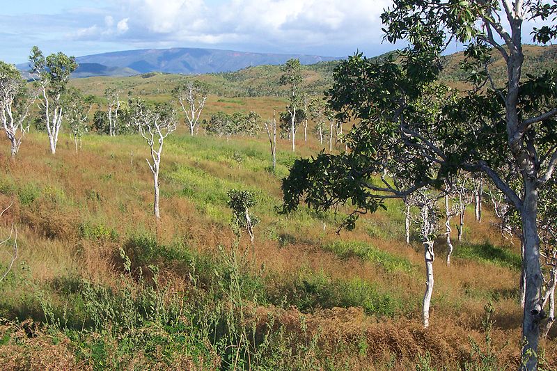
<path id="1" fill-rule="evenodd" d="M 521 210 L 524 236 L 524 265 L 526 268 L 526 295 L 522 336 L 526 345 L 522 355 L 526 358 L 526 370 L 536 370 L 538 365 L 538 341 L 540 338 L 540 319 L 544 317 L 541 306 L 542 271 L 540 269 L 540 239 L 536 224 L 538 211 L 538 189 L 536 180 L 528 175 L 524 180 L 524 206 Z"/>

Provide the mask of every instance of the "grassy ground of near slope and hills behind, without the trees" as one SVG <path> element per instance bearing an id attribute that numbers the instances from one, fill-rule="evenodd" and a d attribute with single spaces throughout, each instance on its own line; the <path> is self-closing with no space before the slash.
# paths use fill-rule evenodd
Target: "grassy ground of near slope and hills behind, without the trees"
<path id="1" fill-rule="evenodd" d="M 526 49 L 535 69 L 555 68 L 556 47 Z M 464 88 L 459 58 L 446 58 L 443 78 Z M 335 65 L 304 67 L 302 90 L 320 95 Z M 167 102 L 180 81 L 199 79 L 211 92 L 202 119 L 217 111 L 266 119 L 287 104 L 281 73 L 260 66 L 70 85 L 102 108 L 107 87 L 122 100 Z M 295 159 L 324 151 L 315 134 L 306 143 L 299 133 L 297 152 L 278 139 L 273 172 L 265 132 L 190 136 L 181 125 L 164 142 L 155 221 L 144 139 L 90 132 L 77 151 L 64 130 L 56 155 L 35 128 L 15 159 L 0 141 L 0 210 L 11 205 L 0 236 L 17 228 L 17 260 L 0 280 L 2 370 L 510 370 L 521 362 L 521 246 L 501 237 L 489 206 L 481 223 L 466 210 L 450 266 L 444 237 L 436 242 L 424 329 L 423 246 L 417 228 L 405 244 L 400 200 L 340 233 L 343 207 L 278 213 Z M 333 152 L 345 149 L 333 143 Z M 233 189 L 256 200 L 253 244 L 232 222 Z M 0 274 L 10 264 L 2 248 Z M 553 328 L 541 341 L 544 369 L 557 368 L 556 336 Z"/>

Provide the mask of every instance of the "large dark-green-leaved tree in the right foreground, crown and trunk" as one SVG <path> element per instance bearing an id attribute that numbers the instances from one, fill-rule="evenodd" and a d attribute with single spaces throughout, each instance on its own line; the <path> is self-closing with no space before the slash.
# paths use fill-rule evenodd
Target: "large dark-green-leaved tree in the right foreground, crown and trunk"
<path id="1" fill-rule="evenodd" d="M 346 136 L 350 152 L 298 160 L 283 182 L 285 212 L 302 199 L 318 209 L 350 200 L 353 226 L 385 198 L 440 188 L 459 170 L 483 173 L 519 211 L 524 231 L 524 370 L 537 368 L 544 318 L 536 219 L 540 189 L 557 164 L 557 72 L 523 76 L 522 24 L 556 13 L 543 1 L 393 1 L 382 15 L 386 39 L 408 42 L 396 63 L 357 54 L 334 73 L 329 104 L 339 120 L 356 119 Z M 555 36 L 551 27 L 534 31 L 540 42 Z M 471 89 L 460 95 L 438 81 L 451 40 L 466 44 L 462 67 Z M 492 53 L 505 60 L 505 86 L 493 82 Z M 405 190 L 375 180 L 393 161 L 411 182 Z M 514 174 L 518 191 L 510 187 Z"/>

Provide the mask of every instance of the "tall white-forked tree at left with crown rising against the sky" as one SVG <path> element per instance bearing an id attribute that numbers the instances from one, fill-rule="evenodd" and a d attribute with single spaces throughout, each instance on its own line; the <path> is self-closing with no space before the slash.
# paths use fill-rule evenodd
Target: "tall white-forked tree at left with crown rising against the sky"
<path id="1" fill-rule="evenodd" d="M 70 74 L 77 68 L 77 63 L 74 57 L 66 56 L 62 52 L 45 57 L 38 47 L 31 49 L 29 62 L 31 75 L 41 92 L 39 106 L 45 120 L 50 150 L 54 155 L 65 109 L 62 95 L 68 85 Z"/>

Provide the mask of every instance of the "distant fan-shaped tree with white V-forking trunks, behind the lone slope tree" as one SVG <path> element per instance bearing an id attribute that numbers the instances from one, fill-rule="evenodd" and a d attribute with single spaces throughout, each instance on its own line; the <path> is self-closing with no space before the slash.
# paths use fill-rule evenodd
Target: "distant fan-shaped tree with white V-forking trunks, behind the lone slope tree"
<path id="1" fill-rule="evenodd" d="M 197 80 L 186 81 L 173 90 L 173 95 L 178 98 L 182 111 L 184 111 L 192 136 L 196 132 L 201 111 L 207 101 L 207 91 L 207 85 Z"/>

